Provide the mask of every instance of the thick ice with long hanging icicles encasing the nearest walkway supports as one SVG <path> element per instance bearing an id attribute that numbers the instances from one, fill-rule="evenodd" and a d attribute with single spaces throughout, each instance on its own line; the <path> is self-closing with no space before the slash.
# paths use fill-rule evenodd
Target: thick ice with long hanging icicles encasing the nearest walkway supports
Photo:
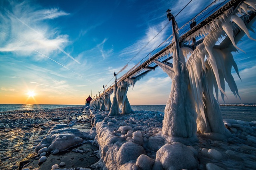
<path id="1" fill-rule="evenodd" d="M 251 1 L 247 2 L 252 6 Z M 240 7 L 247 14 L 246 3 L 242 3 Z M 255 8 L 254 4 L 253 7 Z M 216 98 L 218 99 L 219 89 L 224 100 L 226 95 L 224 92 L 225 81 L 233 94 L 240 98 L 231 74 L 233 66 L 239 76 L 231 52 L 239 49 L 236 43 L 244 33 L 236 35 L 234 39 L 232 27 L 236 29 L 240 27 L 252 39 L 244 21 L 236 16 L 236 11 L 233 12 L 232 9 L 229 9 L 187 38 L 189 40 L 197 35 L 205 36 L 203 42 L 194 51 L 187 50 L 185 47 L 179 49 L 175 45 L 168 51 L 172 53 L 173 66 L 157 60 L 154 61 L 172 78 L 170 97 L 166 104 L 163 122 L 164 134 L 173 137 L 193 137 L 197 125 L 197 130 L 201 133 L 218 133 L 219 139 L 230 135 L 222 122 Z M 224 33 L 226 33 L 227 38 L 220 45 L 215 45 Z M 187 55 L 190 57 L 185 63 L 184 57 Z M 189 80 L 186 79 L 187 77 Z M 214 97 L 214 89 L 216 98 Z"/>

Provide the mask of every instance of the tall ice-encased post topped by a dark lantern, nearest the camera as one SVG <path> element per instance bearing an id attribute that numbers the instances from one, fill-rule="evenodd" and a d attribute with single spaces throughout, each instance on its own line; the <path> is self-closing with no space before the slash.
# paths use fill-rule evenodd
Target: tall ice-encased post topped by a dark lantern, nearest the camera
<path id="1" fill-rule="evenodd" d="M 172 52 L 173 67 L 155 61 L 172 78 L 171 92 L 164 110 L 162 131 L 165 135 L 171 137 L 196 138 L 196 111 L 192 105 L 192 94 L 188 89 L 189 80 L 186 61 L 180 53 L 178 35 L 175 29 L 176 21 L 171 14 L 171 10 L 167 10 L 167 17 L 169 21 L 172 20 L 175 42 L 175 49 Z M 172 140 L 175 139 L 172 138 Z"/>

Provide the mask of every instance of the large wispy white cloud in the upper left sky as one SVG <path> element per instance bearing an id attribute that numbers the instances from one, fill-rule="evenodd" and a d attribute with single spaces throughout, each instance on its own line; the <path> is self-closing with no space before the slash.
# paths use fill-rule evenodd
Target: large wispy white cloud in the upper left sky
<path id="1" fill-rule="evenodd" d="M 58 49 L 63 51 L 61 47 L 67 45 L 68 35 L 59 34 L 56 28 L 50 27 L 43 20 L 52 20 L 69 14 L 57 8 L 40 8 L 30 6 L 28 2 L 12 2 L 9 9 L 3 10 L 2 17 L 0 17 L 2 23 L 0 34 L 4 36 L 0 44 L 1 52 L 31 55 L 35 53 L 33 50 L 35 49 L 44 55 L 49 55 L 54 51 L 58 53 Z"/>

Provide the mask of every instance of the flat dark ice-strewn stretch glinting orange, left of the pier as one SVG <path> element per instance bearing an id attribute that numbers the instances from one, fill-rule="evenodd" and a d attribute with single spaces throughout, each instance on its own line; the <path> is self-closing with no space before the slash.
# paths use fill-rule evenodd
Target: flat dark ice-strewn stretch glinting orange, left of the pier
<path id="1" fill-rule="evenodd" d="M 34 147 L 47 135 L 52 126 L 60 123 L 80 124 L 81 107 L 6 111 L 0 117 L 0 167 L 18 169 L 19 162 L 34 152 Z M 77 118 L 77 119 L 76 119 Z M 75 123 L 74 123 L 75 124 Z"/>

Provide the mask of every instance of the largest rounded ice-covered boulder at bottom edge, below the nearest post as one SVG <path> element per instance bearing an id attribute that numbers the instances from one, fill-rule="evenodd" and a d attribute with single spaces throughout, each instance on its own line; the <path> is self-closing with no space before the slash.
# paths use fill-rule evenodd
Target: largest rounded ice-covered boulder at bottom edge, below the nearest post
<path id="1" fill-rule="evenodd" d="M 166 144 L 156 152 L 164 169 L 194 169 L 197 161 L 194 153 L 186 145 L 178 142 Z"/>

